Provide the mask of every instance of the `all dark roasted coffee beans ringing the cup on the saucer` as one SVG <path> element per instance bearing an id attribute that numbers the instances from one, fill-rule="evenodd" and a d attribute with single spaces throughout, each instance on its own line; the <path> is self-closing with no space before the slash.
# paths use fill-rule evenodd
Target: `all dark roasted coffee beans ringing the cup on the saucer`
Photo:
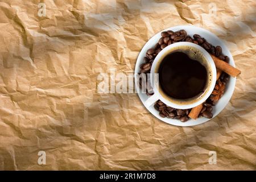
<path id="1" fill-rule="evenodd" d="M 225 61 L 226 63 L 229 63 L 229 57 L 223 55 L 222 48 L 220 46 L 213 46 L 205 38 L 202 38 L 198 34 L 194 34 L 193 38 L 189 35 L 187 35 L 187 32 L 185 30 L 180 31 L 164 31 L 161 33 L 161 38 L 158 40 L 158 43 L 155 44 L 154 48 L 150 48 L 147 50 L 146 56 L 144 57 L 144 63 L 141 65 L 141 73 L 150 73 L 150 69 L 152 66 L 152 63 L 158 55 L 160 51 L 162 51 L 163 48 L 166 46 L 169 46 L 170 44 L 174 44 L 176 42 L 191 42 L 195 43 L 201 47 L 203 47 L 206 51 L 211 53 L 212 55 L 218 57 L 219 59 Z M 229 81 L 229 75 L 226 73 L 222 73 L 220 80 L 224 82 Z M 149 94 L 147 92 L 147 95 L 152 95 L 154 93 Z M 160 103 L 160 104 L 159 104 Z M 203 110 L 201 111 L 199 117 L 205 117 L 205 118 L 212 118 L 212 110 L 215 103 L 210 100 L 210 97 L 208 100 L 204 103 Z M 188 114 L 191 109 L 175 109 L 169 106 L 166 106 L 161 101 L 157 101 L 154 105 L 155 109 L 159 111 L 159 114 L 161 117 L 167 117 L 167 118 L 175 118 L 180 119 L 180 121 L 185 122 L 188 121 Z M 164 108 L 164 109 L 163 109 Z"/>

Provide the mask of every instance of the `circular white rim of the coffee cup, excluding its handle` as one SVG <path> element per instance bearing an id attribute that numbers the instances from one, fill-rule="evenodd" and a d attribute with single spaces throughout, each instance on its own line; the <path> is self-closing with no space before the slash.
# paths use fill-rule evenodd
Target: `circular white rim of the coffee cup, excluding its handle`
<path id="1" fill-rule="evenodd" d="M 155 68 L 156 68 L 156 65 L 158 64 L 158 61 L 170 49 L 173 49 L 173 48 L 179 47 L 179 46 L 190 46 L 190 47 L 199 49 L 199 51 L 203 54 L 205 59 L 208 61 L 210 68 L 211 68 L 211 72 L 212 72 L 212 82 L 209 86 L 208 91 L 204 94 L 204 96 L 202 98 L 200 98 L 200 100 L 193 102 L 192 104 L 179 105 L 179 104 L 175 104 L 174 102 L 168 101 L 166 98 L 164 98 L 162 96 L 162 94 L 159 93 L 159 90 L 155 87 L 156 84 L 155 84 L 155 78 L 154 78 L 155 74 L 154 73 L 155 73 Z M 151 73 L 150 81 L 151 81 L 152 89 L 154 90 L 154 94 L 158 94 L 159 100 L 164 102 L 164 104 L 166 104 L 170 107 L 174 107 L 176 109 L 191 109 L 192 107 L 196 107 L 196 106 L 202 104 L 204 101 L 206 101 L 207 98 L 210 96 L 210 94 L 212 94 L 212 92 L 213 92 L 214 86 L 216 84 L 216 76 L 217 76 L 216 66 L 215 66 L 214 61 L 213 61 L 212 57 L 210 56 L 210 54 L 207 51 L 205 51 L 205 49 L 203 47 L 201 47 L 195 43 L 190 43 L 190 42 L 178 42 L 178 43 L 171 44 L 170 46 L 167 46 L 164 49 L 162 49 L 162 51 L 160 51 L 158 53 L 158 55 L 155 57 L 154 62 L 151 66 L 150 73 Z"/>

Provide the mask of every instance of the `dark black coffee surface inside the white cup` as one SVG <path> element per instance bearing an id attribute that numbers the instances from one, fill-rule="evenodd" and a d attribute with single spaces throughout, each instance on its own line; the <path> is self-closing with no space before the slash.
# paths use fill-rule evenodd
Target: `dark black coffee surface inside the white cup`
<path id="1" fill-rule="evenodd" d="M 158 73 L 163 92 L 179 100 L 198 96 L 207 84 L 207 69 L 183 52 L 164 57 Z"/>

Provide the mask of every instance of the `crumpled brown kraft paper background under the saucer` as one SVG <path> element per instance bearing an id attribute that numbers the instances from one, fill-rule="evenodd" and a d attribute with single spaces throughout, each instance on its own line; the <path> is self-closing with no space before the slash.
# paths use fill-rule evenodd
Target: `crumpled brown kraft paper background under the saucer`
<path id="1" fill-rule="evenodd" d="M 254 0 L 1 0 L 0 169 L 255 170 L 255 11 Z M 220 37 L 242 71 L 216 118 L 172 126 L 137 94 L 97 93 L 99 73 L 133 73 L 147 40 L 181 24 Z"/>

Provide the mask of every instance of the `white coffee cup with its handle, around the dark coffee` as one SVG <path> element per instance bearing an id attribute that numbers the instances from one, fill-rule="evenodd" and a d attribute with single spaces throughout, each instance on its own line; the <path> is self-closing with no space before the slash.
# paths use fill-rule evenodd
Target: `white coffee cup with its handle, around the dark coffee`
<path id="1" fill-rule="evenodd" d="M 164 59 L 164 57 L 171 52 L 177 51 L 179 49 L 182 49 L 184 47 L 188 48 L 188 51 L 196 51 L 197 53 L 200 53 L 201 56 L 204 57 L 204 64 L 207 71 L 211 74 L 210 75 L 210 81 L 207 85 L 207 88 L 204 90 L 202 94 L 200 94 L 199 97 L 192 99 L 192 100 L 175 100 L 174 98 L 168 97 L 163 92 L 160 92 L 161 88 L 159 86 L 158 82 L 158 68 L 161 61 Z M 214 86 L 216 84 L 216 67 L 214 64 L 214 61 L 212 57 L 209 55 L 207 51 L 203 47 L 198 46 L 197 44 L 190 43 L 190 42 L 178 42 L 171 44 L 170 46 L 167 46 L 166 48 L 162 49 L 158 53 L 158 55 L 155 57 L 155 60 L 151 66 L 150 71 L 150 83 L 152 86 L 152 89 L 154 90 L 154 94 L 150 96 L 144 103 L 146 106 L 150 106 L 154 104 L 156 101 L 160 100 L 164 102 L 167 106 L 174 107 L 176 109 L 190 109 L 192 107 L 198 106 L 202 104 L 204 101 L 207 100 L 207 98 L 212 93 Z M 185 92 L 185 90 L 184 90 Z"/>

